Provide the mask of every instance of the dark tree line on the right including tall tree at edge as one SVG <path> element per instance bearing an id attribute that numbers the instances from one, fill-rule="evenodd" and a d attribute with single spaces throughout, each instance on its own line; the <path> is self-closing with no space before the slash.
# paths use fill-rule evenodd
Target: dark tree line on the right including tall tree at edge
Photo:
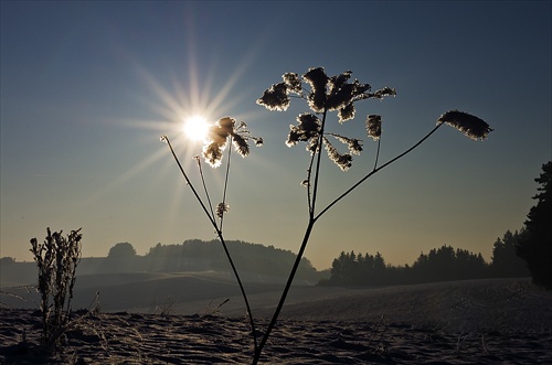
<path id="1" fill-rule="evenodd" d="M 342 251 L 331 265 L 327 286 L 402 285 L 444 280 L 507 278 L 531 276 L 535 285 L 552 289 L 552 162 L 542 165 L 534 181 L 537 204 L 531 207 L 523 228 L 506 232 L 492 247 L 491 262 L 481 254 L 454 249 L 444 245 L 422 253 L 416 261 L 405 266 L 390 266 L 380 253 L 349 254 Z"/>

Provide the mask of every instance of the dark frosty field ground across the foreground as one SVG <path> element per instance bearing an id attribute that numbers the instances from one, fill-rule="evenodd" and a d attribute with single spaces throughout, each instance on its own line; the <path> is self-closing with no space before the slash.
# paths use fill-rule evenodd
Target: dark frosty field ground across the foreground
<path id="1" fill-rule="evenodd" d="M 261 332 L 272 308 L 254 312 Z M 0 364 L 251 363 L 245 316 L 213 313 L 75 316 L 47 356 L 40 313 L 3 309 Z M 285 309 L 262 363 L 552 364 L 552 293 L 512 279 L 327 291 Z"/>

